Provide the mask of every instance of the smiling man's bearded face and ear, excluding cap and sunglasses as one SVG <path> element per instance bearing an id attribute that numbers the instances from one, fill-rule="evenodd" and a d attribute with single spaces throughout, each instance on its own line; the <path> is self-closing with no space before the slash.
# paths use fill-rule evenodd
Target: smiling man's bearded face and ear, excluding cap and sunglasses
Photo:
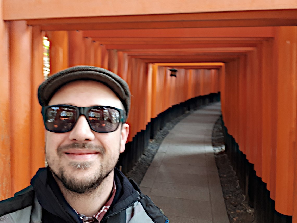
<path id="1" fill-rule="evenodd" d="M 101 105 L 123 109 L 113 91 L 96 81 L 74 81 L 65 85 L 50 99 L 49 105 L 57 104 L 78 107 Z M 116 131 L 110 133 L 94 132 L 86 117 L 81 115 L 70 132 L 46 131 L 45 155 L 48 166 L 68 190 L 90 192 L 113 171 L 119 153 L 124 152 L 128 133 L 127 124 L 120 124 Z"/>

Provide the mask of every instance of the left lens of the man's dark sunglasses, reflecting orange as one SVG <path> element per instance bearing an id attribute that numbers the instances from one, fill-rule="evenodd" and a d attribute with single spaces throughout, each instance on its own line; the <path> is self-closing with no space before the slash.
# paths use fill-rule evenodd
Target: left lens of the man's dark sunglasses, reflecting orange
<path id="1" fill-rule="evenodd" d="M 45 112 L 46 128 L 53 132 L 67 132 L 75 124 L 76 110 L 65 106 L 52 106 Z"/>

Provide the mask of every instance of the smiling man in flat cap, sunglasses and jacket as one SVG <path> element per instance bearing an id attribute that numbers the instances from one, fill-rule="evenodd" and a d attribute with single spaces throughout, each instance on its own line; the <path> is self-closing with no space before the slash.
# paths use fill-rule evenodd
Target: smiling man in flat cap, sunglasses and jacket
<path id="1" fill-rule="evenodd" d="M 90 66 L 60 71 L 38 89 L 47 168 L 0 202 L 0 222 L 168 222 L 115 165 L 125 150 L 130 91 Z"/>

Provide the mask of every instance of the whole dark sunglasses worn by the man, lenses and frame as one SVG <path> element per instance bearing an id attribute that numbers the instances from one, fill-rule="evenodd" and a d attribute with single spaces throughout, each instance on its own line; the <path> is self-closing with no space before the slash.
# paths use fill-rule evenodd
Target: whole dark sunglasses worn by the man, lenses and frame
<path id="1" fill-rule="evenodd" d="M 54 133 L 71 131 L 80 115 L 84 115 L 90 128 L 99 133 L 116 131 L 120 123 L 124 123 L 124 110 L 110 106 L 50 105 L 42 107 L 41 114 L 46 130 Z"/>

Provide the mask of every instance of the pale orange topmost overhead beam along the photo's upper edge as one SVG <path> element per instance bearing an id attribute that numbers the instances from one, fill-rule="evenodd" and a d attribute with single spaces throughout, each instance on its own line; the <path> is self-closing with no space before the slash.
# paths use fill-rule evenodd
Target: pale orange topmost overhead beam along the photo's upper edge
<path id="1" fill-rule="evenodd" d="M 59 5 L 59 7 L 57 7 Z M 46 10 L 44 10 L 46 9 Z M 4 0 L 4 19 L 40 19 L 40 18 L 67 18 L 67 17 L 94 17 L 117 15 L 149 15 L 192 12 L 228 12 L 251 10 L 279 10 L 296 9 L 294 0 L 270 1 L 258 0 L 242 2 L 233 0 L 212 0 L 211 4 L 201 4 L 200 1 L 184 0 Z M 224 17 L 222 17 L 224 18 Z"/>

